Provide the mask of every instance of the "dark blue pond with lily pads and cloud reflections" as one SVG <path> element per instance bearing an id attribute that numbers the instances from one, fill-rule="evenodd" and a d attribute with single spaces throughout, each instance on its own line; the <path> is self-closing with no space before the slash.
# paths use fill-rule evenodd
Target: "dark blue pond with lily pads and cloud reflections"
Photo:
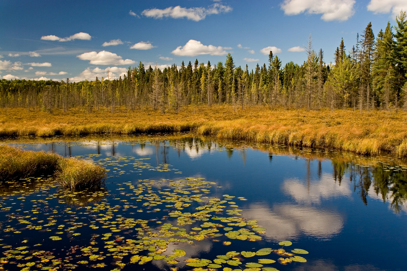
<path id="1" fill-rule="evenodd" d="M 391 157 L 189 136 L 4 142 L 108 169 L 80 192 L 2 184 L 6 270 L 405 270 L 407 167 Z"/>

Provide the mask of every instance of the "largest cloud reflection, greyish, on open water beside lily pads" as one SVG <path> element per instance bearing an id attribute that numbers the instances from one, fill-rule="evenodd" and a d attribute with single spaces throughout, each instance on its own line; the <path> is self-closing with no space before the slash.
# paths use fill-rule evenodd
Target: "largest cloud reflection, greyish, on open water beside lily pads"
<path id="1" fill-rule="evenodd" d="M 257 220 L 266 228 L 266 236 L 273 240 L 293 239 L 304 233 L 308 236 L 327 239 L 338 234 L 343 219 L 338 213 L 300 205 L 278 205 L 269 209 L 261 204 L 251 204 L 243 216 Z"/>

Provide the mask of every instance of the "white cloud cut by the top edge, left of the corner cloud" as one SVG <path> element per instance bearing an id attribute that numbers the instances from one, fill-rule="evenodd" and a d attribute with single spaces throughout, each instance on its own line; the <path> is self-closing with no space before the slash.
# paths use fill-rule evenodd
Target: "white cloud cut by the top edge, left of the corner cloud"
<path id="1" fill-rule="evenodd" d="M 321 19 L 324 21 L 346 21 L 355 14 L 354 5 L 355 0 L 284 0 L 281 9 L 286 15 L 306 12 L 308 14 L 322 14 Z"/>

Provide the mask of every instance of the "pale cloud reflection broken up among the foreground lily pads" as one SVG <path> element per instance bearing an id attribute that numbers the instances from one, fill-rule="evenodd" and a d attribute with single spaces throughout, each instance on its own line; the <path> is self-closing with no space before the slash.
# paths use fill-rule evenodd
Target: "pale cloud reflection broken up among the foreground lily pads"
<path id="1" fill-rule="evenodd" d="M 183 268 L 186 266 L 186 262 L 184 260 L 189 259 L 189 258 L 199 258 L 199 254 L 202 252 L 209 252 L 212 248 L 212 242 L 208 239 L 205 240 L 200 240 L 200 241 L 194 241 L 193 245 L 190 245 L 188 243 L 176 243 L 178 245 L 175 245 L 173 243 L 168 244 L 167 251 L 162 253 L 163 255 L 169 255 L 173 254 L 172 250 L 175 249 L 183 249 L 185 250 L 186 254 L 183 257 L 176 258 L 180 262 L 175 264 L 179 268 Z M 153 261 L 153 263 L 160 269 L 167 269 L 167 263 L 165 261 Z M 171 266 L 174 266 L 171 264 Z"/>

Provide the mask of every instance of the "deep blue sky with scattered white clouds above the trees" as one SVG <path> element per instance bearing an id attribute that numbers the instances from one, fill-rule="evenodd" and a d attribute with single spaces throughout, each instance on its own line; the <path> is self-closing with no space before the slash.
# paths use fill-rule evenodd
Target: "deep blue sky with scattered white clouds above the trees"
<path id="1" fill-rule="evenodd" d="M 254 69 L 270 49 L 302 64 L 311 34 L 333 61 L 371 22 L 395 25 L 407 0 L 0 1 L 0 78 L 117 78 L 128 67 L 225 62 Z M 109 73 L 108 73 L 109 71 Z"/>

